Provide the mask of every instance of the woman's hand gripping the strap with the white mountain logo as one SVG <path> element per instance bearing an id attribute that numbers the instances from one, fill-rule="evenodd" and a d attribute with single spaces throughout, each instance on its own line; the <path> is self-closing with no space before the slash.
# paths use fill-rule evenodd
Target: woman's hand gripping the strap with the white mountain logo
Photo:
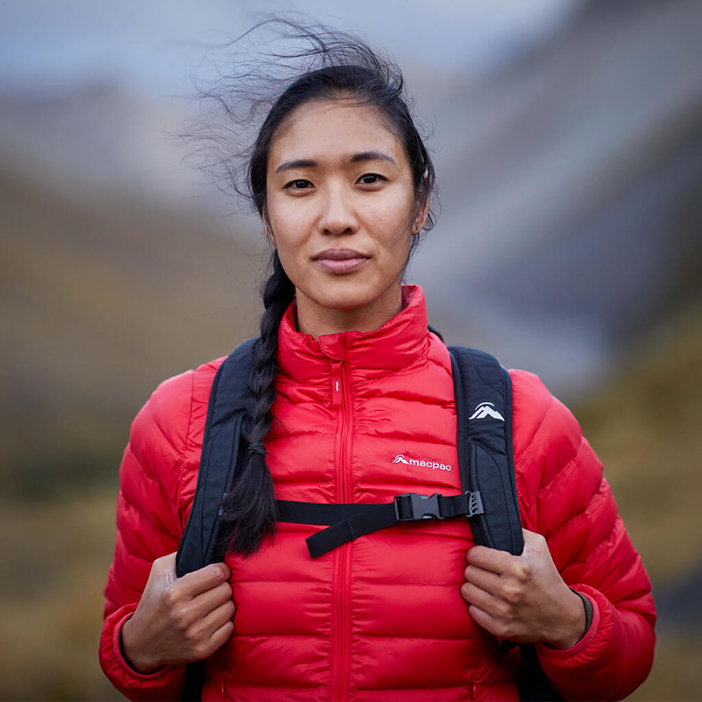
<path id="1" fill-rule="evenodd" d="M 545 538 L 522 531 L 521 556 L 485 546 L 468 551 L 461 596 L 475 622 L 495 636 L 569 649 L 585 632 L 583 601 L 564 583 Z"/>

